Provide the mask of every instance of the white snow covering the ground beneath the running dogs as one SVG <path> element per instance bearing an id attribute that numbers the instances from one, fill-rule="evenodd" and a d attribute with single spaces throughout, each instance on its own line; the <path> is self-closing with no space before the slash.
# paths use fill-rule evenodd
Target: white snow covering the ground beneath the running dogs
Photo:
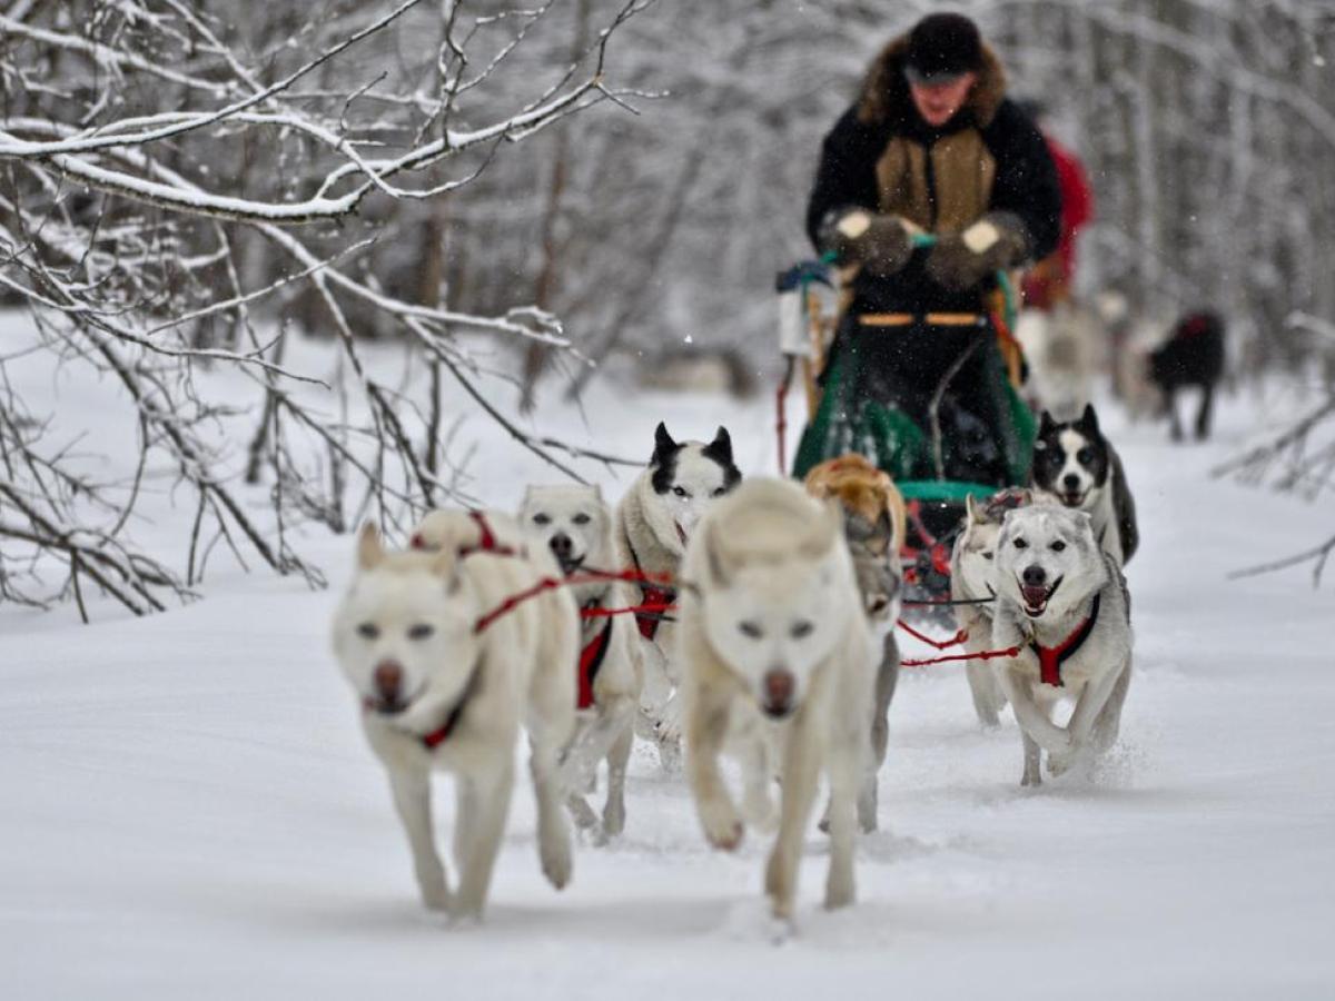
<path id="1" fill-rule="evenodd" d="M 111 386 L 69 368 L 21 388 L 59 404 L 71 432 L 117 434 L 104 426 Z M 696 438 L 725 423 L 745 470 L 774 470 L 769 394 L 590 392 L 587 422 L 546 402 L 543 432 L 639 456 L 659 419 Z M 798 407 L 794 394 L 794 426 Z M 1328 517 L 1207 475 L 1264 412 L 1232 398 L 1216 440 L 1187 447 L 1104 414 L 1144 538 L 1128 573 L 1136 675 L 1112 761 L 1021 790 L 1009 714 L 984 733 L 959 665 L 906 671 L 882 829 L 858 844 L 858 904 L 820 909 L 813 827 L 782 944 L 760 896 L 768 845 L 710 852 L 682 779 L 645 747 L 625 836 L 579 846 L 567 890 L 539 874 L 525 778 L 485 924 L 426 916 L 327 650 L 350 539 L 303 542 L 330 591 L 219 558 L 204 601 L 148 619 L 109 605 L 87 627 L 68 609 L 0 610 L 4 994 L 1331 997 L 1331 589 L 1312 590 L 1306 571 L 1226 578 L 1324 538 Z M 490 503 L 551 479 L 482 418 L 461 438 L 482 442 L 471 488 Z M 582 468 L 611 496 L 629 482 Z M 167 526 L 171 496 L 162 503 Z M 438 787 L 447 831 L 453 797 Z"/>

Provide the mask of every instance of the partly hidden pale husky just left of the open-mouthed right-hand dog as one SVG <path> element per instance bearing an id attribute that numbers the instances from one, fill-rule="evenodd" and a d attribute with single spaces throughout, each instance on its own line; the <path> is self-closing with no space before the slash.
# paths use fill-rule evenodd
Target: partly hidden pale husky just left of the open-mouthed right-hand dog
<path id="1" fill-rule="evenodd" d="M 1028 490 L 1007 488 L 975 503 L 964 500 L 964 529 L 951 553 L 951 599 L 955 622 L 965 634 L 964 650 L 976 654 L 992 646 L 992 611 L 996 602 L 996 547 L 1005 513 L 1033 502 Z M 973 695 L 973 711 L 984 726 L 997 726 L 1005 694 L 988 661 L 969 661 L 964 667 Z"/>

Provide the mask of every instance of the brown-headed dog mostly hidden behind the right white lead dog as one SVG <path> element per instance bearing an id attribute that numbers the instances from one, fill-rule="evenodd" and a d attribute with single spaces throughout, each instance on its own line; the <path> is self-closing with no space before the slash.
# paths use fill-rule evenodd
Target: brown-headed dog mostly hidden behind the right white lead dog
<path id="1" fill-rule="evenodd" d="M 885 630 L 881 665 L 876 671 L 876 709 L 872 717 L 872 767 L 857 799 L 857 818 L 864 831 L 876 830 L 876 773 L 889 743 L 886 714 L 900 675 L 900 647 L 894 623 L 900 617 L 904 545 L 904 495 L 894 482 L 866 458 L 856 454 L 826 459 L 804 480 L 817 499 L 834 498 L 844 509 L 844 535 L 853 557 L 862 609 L 873 626 Z M 825 826 L 825 822 L 821 822 Z"/>

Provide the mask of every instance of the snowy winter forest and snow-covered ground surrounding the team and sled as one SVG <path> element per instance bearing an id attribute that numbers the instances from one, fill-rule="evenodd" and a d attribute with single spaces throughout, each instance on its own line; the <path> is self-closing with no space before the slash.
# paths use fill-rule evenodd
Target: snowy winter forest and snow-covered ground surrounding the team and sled
<path id="1" fill-rule="evenodd" d="M 1073 300 L 1143 554 L 1113 757 L 1021 793 L 1019 710 L 905 667 L 852 909 L 813 818 L 776 934 L 770 837 L 710 852 L 639 734 L 563 896 L 519 767 L 486 921 L 433 921 L 330 653 L 358 530 L 615 505 L 659 420 L 786 475 L 774 276 L 943 9 L 1093 192 Z M 1328 997 L 1335 737 L 1295 709 L 1335 710 L 1332 163 L 1331 0 L 0 0 L 15 996 Z M 1116 354 L 1203 310 L 1215 435 L 1169 444 Z"/>

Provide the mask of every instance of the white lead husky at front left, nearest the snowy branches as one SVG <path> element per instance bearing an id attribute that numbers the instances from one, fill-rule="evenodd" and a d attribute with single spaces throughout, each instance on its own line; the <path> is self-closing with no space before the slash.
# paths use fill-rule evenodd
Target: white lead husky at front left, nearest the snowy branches
<path id="1" fill-rule="evenodd" d="M 362 703 L 367 741 L 388 771 L 422 902 L 454 917 L 481 917 L 486 904 L 521 719 L 531 746 L 542 872 L 561 889 L 571 870 L 557 759 L 574 729 L 574 599 L 563 589 L 542 593 L 479 631 L 482 617 L 507 597 L 558 573 L 546 551 L 525 555 L 497 534 L 514 541 L 518 526 L 506 515 L 474 521 L 438 511 L 418 527 L 418 549 L 387 553 L 367 525 L 334 617 L 334 650 Z M 433 831 L 434 769 L 457 778 L 453 894 Z"/>

